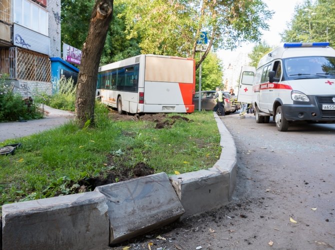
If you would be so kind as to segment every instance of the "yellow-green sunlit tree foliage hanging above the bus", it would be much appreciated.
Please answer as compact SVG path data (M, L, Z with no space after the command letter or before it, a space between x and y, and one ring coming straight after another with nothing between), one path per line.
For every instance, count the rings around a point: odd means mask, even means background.
M272 15L261 0L121 0L127 38L142 37L142 53L191 56L199 31L207 31L214 51L258 41Z

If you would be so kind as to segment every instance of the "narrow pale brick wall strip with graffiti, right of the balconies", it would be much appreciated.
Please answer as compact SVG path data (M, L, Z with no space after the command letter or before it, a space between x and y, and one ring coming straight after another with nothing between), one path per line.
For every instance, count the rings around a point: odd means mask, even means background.
M48 0L50 57L61 57L60 53L60 0Z

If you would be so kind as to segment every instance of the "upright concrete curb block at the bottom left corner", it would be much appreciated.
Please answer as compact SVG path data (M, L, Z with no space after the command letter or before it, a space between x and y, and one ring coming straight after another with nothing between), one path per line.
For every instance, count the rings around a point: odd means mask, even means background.
M104 195L85 192L2 206L2 249L106 249Z

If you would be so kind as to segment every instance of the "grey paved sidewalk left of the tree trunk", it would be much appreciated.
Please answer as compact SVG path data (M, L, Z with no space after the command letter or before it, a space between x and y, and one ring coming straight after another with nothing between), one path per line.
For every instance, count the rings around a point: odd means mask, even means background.
M44 105L44 118L25 122L11 121L0 123L0 142L38 133L64 124L74 116L74 112L64 111Z

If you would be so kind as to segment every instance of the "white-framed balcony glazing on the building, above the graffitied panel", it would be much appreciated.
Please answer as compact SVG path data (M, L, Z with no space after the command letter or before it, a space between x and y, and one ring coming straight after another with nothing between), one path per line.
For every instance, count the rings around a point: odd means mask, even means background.
M48 12L30 0L14 0L14 21L17 24L48 35Z

